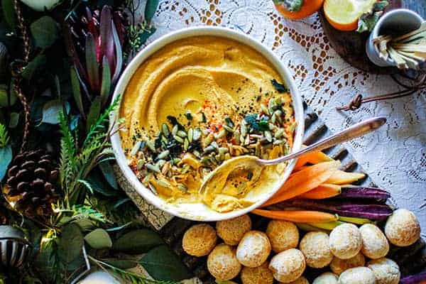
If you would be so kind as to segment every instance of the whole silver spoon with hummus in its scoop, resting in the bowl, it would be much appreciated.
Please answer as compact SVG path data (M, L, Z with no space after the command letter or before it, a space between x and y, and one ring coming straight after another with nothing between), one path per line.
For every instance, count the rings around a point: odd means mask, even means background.
M339 133L336 133L332 136L324 138L321 141L318 141L317 143L307 146L306 148L303 148L302 150L297 151L296 153L291 153L272 160L264 160L254 155L240 155L238 157L231 158L229 160L224 161L222 165L219 165L219 167L215 168L212 173L209 173L209 175L207 175L200 187L200 193L203 194L206 191L210 194L220 193L225 185L226 178L231 172L236 169L258 168L261 170L266 165L276 165L279 163L283 163L286 160L297 158L305 153L309 153L312 151L321 151L339 143L343 143L359 136L363 136L366 133L378 129L385 123L386 118L383 116L366 119L364 121L359 122L358 124L354 124L353 126L344 129L343 131L340 131ZM258 171L257 175L260 175L260 171Z

